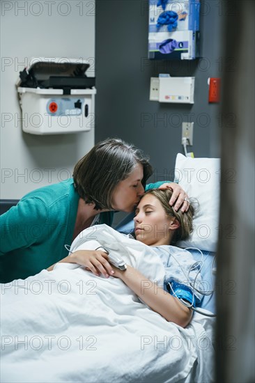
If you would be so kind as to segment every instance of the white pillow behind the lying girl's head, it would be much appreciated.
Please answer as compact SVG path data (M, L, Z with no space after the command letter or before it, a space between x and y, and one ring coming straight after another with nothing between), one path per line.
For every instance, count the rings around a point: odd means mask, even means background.
M197 247L216 251L219 234L220 159L191 158L178 153L175 181L194 198L194 231L189 240L178 242L179 247Z

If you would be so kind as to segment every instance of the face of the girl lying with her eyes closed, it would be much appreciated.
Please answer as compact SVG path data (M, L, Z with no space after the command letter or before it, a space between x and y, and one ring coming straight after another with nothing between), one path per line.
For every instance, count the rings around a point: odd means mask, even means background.
M169 244L171 233L169 226L173 220L168 217L160 201L152 194L146 194L137 209L134 217L134 233L138 241L148 246Z

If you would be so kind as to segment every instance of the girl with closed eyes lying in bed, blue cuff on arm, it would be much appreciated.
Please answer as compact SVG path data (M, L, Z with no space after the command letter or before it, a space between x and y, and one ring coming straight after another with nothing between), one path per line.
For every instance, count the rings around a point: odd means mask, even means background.
M186 327L192 318L192 310L182 304L179 299L184 299L188 302L187 304L195 304L199 299L197 293L193 295L193 290L187 281L187 279L192 278L189 275L189 270L194 261L187 251L170 247L173 258L178 258L177 263L174 264L171 256L169 256L169 245L178 240L185 240L190 236L194 208L190 205L187 212L176 212L169 205L171 194L170 189L149 190L141 198L134 217L136 240L155 247L167 269L168 277L164 281L164 288L155 286L155 283L148 281L141 272L131 265L127 265L124 271L114 267L107 260L108 255L105 251L79 250L70 253L61 262L83 265L97 276L102 273L106 278L114 276L121 279L153 311L162 315L167 321ZM177 255L176 258L175 255ZM51 271L53 267L49 267L48 270ZM178 276L183 267L186 267L186 273ZM194 279L196 279L195 276L193 281ZM180 280L185 280L185 282L178 282ZM171 282L170 294L166 292L169 281Z

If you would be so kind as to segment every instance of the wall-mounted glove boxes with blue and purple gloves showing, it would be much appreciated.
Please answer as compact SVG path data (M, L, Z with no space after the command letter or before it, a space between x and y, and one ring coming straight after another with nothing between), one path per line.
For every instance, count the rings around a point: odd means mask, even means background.
M199 0L148 0L148 58L199 57Z

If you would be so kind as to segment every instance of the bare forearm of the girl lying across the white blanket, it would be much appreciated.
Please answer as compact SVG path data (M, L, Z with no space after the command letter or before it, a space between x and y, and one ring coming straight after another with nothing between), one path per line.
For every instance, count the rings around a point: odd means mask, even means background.
M192 318L192 311L141 274L134 267L127 265L125 271L114 267L114 276L120 278L131 290L135 292L150 308L159 313L169 322L186 327Z

